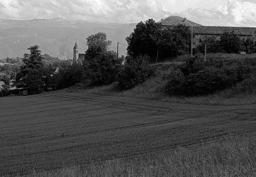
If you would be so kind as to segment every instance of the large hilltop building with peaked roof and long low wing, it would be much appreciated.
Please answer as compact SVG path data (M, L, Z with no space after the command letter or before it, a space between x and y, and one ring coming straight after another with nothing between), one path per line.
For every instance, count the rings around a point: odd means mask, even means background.
M203 42L207 37L215 35L220 37L225 31L234 31L236 35L239 35L241 38L246 39L247 37L255 38L256 28L253 27L212 27L212 26L203 26L196 22L187 20L180 16L169 16L165 19L160 20L162 27L175 27L177 25L185 25L187 27L193 27L193 35L195 46Z

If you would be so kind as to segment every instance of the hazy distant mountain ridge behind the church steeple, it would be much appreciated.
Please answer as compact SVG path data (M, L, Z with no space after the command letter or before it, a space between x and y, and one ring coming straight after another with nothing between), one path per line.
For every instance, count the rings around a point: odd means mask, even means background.
M117 42L126 44L125 38L132 33L136 24L68 21L60 18L42 20L0 20L0 59L23 57L29 46L41 46L46 53L59 59L72 59L72 48L77 39L79 52L86 50L86 38L104 32L112 41L111 50ZM119 54L126 54L120 46Z

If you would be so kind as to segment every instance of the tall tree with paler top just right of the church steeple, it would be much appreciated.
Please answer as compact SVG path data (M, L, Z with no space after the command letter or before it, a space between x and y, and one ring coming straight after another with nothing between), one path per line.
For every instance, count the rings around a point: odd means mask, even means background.
M88 49L83 62L83 82L87 86L111 84L115 81L121 61L109 50L110 41L105 33L96 33L87 38Z

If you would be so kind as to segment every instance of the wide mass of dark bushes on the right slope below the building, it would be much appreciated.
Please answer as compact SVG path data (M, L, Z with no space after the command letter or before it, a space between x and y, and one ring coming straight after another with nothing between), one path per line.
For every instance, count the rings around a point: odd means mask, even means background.
M169 76L169 95L199 96L223 91L251 78L255 62L190 59ZM248 82L248 81L247 81Z

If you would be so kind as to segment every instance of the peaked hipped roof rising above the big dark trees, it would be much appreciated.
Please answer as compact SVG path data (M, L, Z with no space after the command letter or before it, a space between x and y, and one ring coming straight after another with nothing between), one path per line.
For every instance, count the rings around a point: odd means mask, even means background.
M182 18L180 16L169 16L165 19L160 20L160 22L163 26L177 26L177 25L186 25L188 27L200 27L202 25L192 22L190 20L187 20L186 18Z

